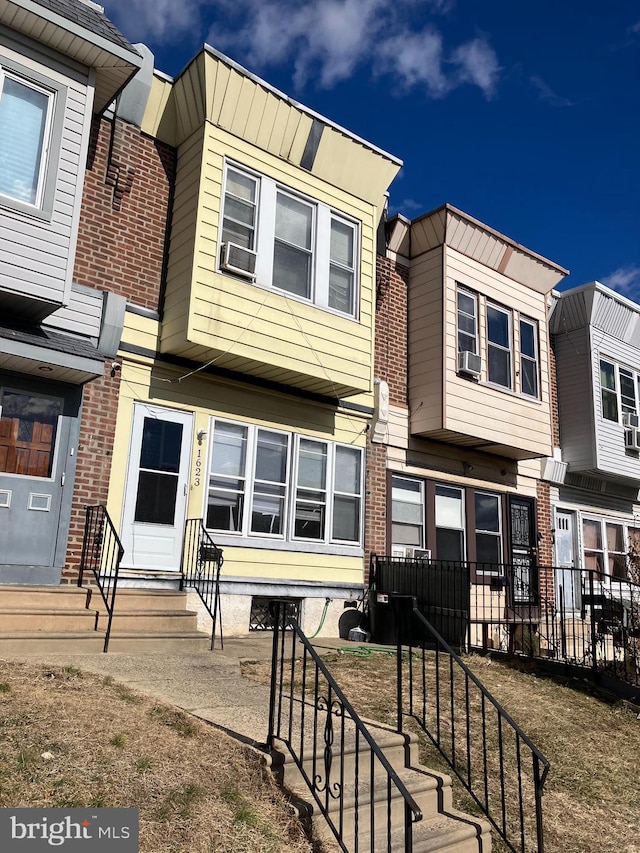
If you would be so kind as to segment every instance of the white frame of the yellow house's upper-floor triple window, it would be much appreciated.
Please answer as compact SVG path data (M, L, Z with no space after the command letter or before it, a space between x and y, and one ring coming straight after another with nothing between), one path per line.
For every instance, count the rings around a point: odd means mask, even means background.
M345 215L341 211L335 210L323 202L309 198L302 193L298 193L291 187L288 187L279 181L267 175L262 175L252 169L248 169L234 161L227 161L224 168L224 180L222 187L222 207L220 213L219 226L219 248L218 262L216 269L223 275L233 275L228 270L221 267L222 256L222 223L224 220L225 198L227 195L227 175L229 170L238 172L248 178L256 181L256 223L255 223L255 241L253 251L256 252L256 268L255 268L255 284L261 287L266 287L281 293L289 299L295 299L300 302L315 305L325 311L339 314L342 317L358 319L359 306L359 261L360 258L360 223L355 219ZM311 281L309 298L291 293L288 290L280 289L277 283L273 280L274 266L274 246L275 246L275 227L276 227L276 205L278 194L289 196L303 204L309 205L313 209L313 235L310 249L311 254ZM331 265L336 262L331 259L331 225L332 222L340 222L353 231L353 293L351 296L351 310L348 312L340 311L337 308L332 308L329 304L329 277ZM338 264L338 266L341 266ZM344 267L343 267L344 268ZM345 268L346 269L346 268Z

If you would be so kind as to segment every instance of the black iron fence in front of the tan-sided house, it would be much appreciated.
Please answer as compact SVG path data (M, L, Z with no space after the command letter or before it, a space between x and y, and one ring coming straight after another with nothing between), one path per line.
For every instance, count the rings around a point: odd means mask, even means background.
M369 599L378 642L395 640L385 604L392 593L415 597L457 649L554 661L640 688L640 585L630 580L557 566L374 556Z

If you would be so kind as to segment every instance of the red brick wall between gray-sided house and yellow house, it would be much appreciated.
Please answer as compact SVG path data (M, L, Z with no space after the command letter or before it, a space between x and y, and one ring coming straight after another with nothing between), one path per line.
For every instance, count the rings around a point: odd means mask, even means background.
M119 119L94 120L75 282L117 293L143 308L160 308L174 175L172 148ZM104 375L83 390L63 583L77 579L85 507L106 503L109 491L121 375L111 363L105 362Z

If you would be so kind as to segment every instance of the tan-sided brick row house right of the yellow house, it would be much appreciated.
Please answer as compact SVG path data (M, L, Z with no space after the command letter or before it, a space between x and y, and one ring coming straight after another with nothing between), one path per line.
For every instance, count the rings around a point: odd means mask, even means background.
M486 631L553 559L548 313L567 271L451 205L395 216L386 238L367 548L461 566L457 592L431 594Z

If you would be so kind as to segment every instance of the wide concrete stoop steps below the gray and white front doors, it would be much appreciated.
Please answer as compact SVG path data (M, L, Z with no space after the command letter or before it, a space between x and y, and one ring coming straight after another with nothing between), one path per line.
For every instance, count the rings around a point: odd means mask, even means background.
M206 651L210 637L176 590L122 589L116 595L109 649ZM107 612L95 587L0 586L0 653L102 651Z

